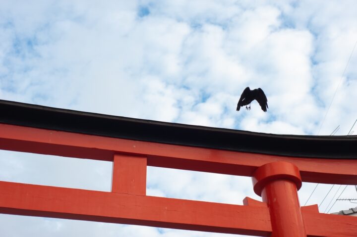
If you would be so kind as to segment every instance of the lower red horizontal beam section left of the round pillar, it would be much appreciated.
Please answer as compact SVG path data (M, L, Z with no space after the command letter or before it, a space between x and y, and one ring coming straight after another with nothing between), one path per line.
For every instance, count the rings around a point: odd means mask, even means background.
M0 181L0 213L269 236L266 206L242 206Z

